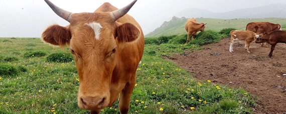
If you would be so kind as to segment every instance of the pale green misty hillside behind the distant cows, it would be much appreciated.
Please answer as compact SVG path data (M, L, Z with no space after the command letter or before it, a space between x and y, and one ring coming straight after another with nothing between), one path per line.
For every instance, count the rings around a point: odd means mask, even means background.
M286 29L286 18L253 18L253 19L216 19L216 18L196 18L198 23L207 23L205 30L219 31L223 28L236 28L237 30L245 30L245 26L248 22L253 21L269 21L272 23L280 23L282 29ZM179 19L169 21L168 24L162 25L156 30L145 35L145 37L158 37L162 35L181 35L186 34L185 23L187 19Z

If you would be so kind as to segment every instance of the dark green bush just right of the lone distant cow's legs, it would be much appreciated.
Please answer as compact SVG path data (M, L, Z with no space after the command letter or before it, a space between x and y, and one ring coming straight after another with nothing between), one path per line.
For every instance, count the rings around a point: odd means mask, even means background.
M198 33L195 39L190 41L190 43L204 45L204 44L208 44L211 42L219 41L220 39L221 39L221 34L219 34L216 31L207 30L207 31Z

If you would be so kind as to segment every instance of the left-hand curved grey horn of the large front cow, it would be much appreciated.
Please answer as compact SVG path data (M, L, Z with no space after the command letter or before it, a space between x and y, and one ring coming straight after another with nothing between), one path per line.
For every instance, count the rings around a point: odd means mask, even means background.
M45 0L46 3L54 10L54 12L60 17L64 18L67 21L70 21L72 12L66 11L55 4L53 4L50 0Z

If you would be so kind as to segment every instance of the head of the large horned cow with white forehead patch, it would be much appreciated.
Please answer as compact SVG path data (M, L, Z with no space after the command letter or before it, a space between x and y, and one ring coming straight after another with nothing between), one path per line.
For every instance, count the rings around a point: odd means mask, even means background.
M82 13L72 13L45 1L55 13L70 22L67 26L49 26L42 33L42 39L53 45L69 46L80 82L78 106L89 110L106 107L110 101L112 71L120 52L117 46L140 35L133 24L116 20L126 14L136 0L112 12Z

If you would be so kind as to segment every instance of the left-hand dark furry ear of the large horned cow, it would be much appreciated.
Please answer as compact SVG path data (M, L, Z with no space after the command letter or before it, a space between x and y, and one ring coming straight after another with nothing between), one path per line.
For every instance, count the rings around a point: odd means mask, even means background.
M66 46L70 43L71 33L69 27L58 24L50 25L42 33L42 40L58 46Z

